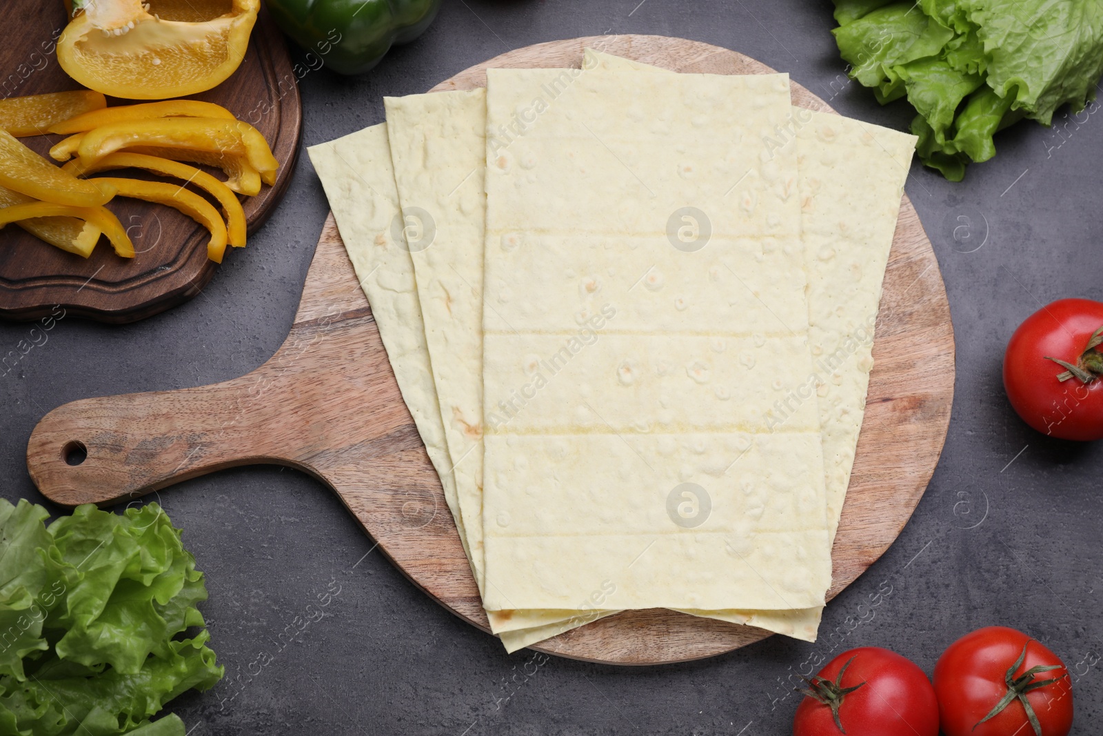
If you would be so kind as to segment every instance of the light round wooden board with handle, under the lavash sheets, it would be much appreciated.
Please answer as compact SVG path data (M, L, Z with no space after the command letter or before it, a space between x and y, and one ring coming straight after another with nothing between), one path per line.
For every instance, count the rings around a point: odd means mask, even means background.
M693 41L597 36L520 49L435 89L475 86L489 66L578 66L587 45L675 71L770 71ZM794 85L793 95L799 104L828 109L803 87ZM907 523L950 422L950 308L931 244L907 196L885 277L874 358L829 597L868 568ZM74 441L87 447L88 457L71 467L64 448ZM42 419L28 446L28 467L39 489L68 505L132 498L254 462L300 468L331 486L416 585L488 630L440 482L401 401L332 215L295 324L270 361L213 386L67 404ZM653 664L719 654L767 636L652 609L591 622L537 649L597 662Z

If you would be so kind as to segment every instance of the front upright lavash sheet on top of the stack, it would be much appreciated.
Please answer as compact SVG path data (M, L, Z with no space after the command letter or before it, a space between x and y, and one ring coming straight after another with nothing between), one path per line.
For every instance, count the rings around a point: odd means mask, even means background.
M823 604L815 402L765 424L811 371L789 110L785 75L488 72L488 609Z

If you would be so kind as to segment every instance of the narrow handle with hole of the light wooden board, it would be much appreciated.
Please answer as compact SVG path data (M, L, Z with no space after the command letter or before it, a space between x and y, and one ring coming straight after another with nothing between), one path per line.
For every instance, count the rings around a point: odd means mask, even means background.
M295 450L278 446L272 427L279 425L270 424L280 402L266 394L276 390L255 373L197 388L65 404L34 428L26 467L43 495L77 505L137 498L233 466L289 463Z

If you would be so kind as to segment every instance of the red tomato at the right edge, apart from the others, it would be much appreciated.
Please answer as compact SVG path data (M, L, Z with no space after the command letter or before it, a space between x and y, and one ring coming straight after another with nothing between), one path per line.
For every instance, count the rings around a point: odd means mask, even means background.
M1059 299L1019 326L1004 354L1004 387L1024 422L1061 439L1103 438L1103 353L1090 344L1101 328L1103 303L1090 299ZM1067 369L1051 358L1080 377L1058 380Z

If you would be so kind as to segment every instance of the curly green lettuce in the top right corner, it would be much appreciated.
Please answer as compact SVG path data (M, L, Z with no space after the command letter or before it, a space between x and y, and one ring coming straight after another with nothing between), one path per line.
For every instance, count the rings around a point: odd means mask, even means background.
M1103 0L835 0L839 52L881 104L907 96L924 164L961 180L994 134L1082 109L1103 76Z

